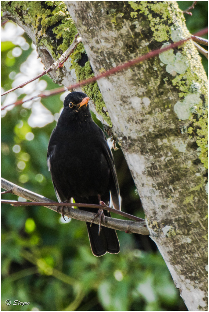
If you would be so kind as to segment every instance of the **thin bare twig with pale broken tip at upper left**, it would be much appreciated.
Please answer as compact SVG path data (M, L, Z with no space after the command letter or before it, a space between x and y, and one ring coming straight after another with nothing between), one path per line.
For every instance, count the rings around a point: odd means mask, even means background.
M4 93L2 93L2 96L5 95L5 94L8 94L8 93L10 93L10 92L12 92L14 90L17 90L18 88L23 88L28 83L30 83L30 82L32 82L32 81L34 81L34 80L36 80L38 78L41 78L42 76L46 75L47 73L52 71L54 68L62 67L62 66L60 66L60 64L63 64L67 60L67 58L72 54L72 52L77 47L78 43L81 42L81 37L77 38L78 35L79 35L78 33L77 33L77 35L75 35L75 38L74 38L72 44L69 46L69 48L49 68L47 68L45 71L43 71L38 76L36 76L36 77L34 77L34 78L32 78L32 79L22 83L21 85L17 85L16 87L14 87L14 88L12 88L10 90L5 91Z

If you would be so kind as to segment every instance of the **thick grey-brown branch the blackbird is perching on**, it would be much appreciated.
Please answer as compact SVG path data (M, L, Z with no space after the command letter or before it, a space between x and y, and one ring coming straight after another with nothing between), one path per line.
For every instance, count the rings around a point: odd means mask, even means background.
M20 186L9 182L2 178L2 188L5 190L11 190L11 193L17 196L21 196L27 200L30 200L32 202L41 202L42 206L47 207L53 211L57 212L57 208L59 206L62 206L63 203L59 204L56 203L42 195L39 195L37 193L31 192L25 188L21 188ZM45 203L51 203L51 206L46 206ZM23 204L23 203L22 203ZM27 204L30 204L29 202ZM64 203L65 207L63 207L63 213L67 217L71 217L73 219L85 221L85 222L92 222L93 217L95 216L94 213L82 211L79 209L73 209L67 205L68 203ZM55 206L56 205L56 206ZM73 204L74 206L77 204ZM83 204L82 204L83 206ZM98 205L99 206L99 205ZM101 206L99 206L101 207ZM115 211L114 211L115 212ZM59 213L62 213L61 211ZM149 235L149 231L146 227L145 222L134 222L134 221L126 221L126 220L120 220L120 219L113 219L110 217L105 217L106 222L102 225L105 227L110 227L112 229L125 231L128 233L138 233L142 235ZM95 219L93 223L99 224L99 220Z

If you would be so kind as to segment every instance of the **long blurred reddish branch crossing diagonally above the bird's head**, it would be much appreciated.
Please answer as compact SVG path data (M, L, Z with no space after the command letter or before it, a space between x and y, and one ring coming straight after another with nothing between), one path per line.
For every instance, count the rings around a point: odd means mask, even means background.
M202 35L206 34L207 32L208 32L208 28L204 28L204 29L202 29L201 31L195 33L194 36L202 36ZM129 67L135 66L135 65L137 65L138 63L141 63L141 62L143 62L143 61L145 61L145 60L147 60L147 59L150 59L150 58L152 58L152 57L154 57L154 56L157 56L157 55L159 55L159 54L161 54L161 53L163 53L163 52L165 52L165 51L168 51L168 50L170 50L170 49L175 49L176 47L181 46L182 44L184 44L186 41L188 41L188 40L190 40L190 39L192 39L192 37L188 37L187 39L182 39L182 40L180 40L180 41L177 41L177 42L175 42L175 43L170 44L169 46L165 46L164 48L160 48L160 49L157 49L157 50L153 50L153 51L151 51L151 52L149 52L149 53L147 53L147 54L145 54L145 55L142 55L142 56L137 57L137 58L134 59L134 60L127 61L127 62L123 63L122 65L119 65L119 66L117 66L117 67L115 67L115 68L113 67L113 68L109 69L108 71L105 71L105 72L103 72L103 73L101 73L101 74L99 74L99 75L97 75L97 76L94 76L94 77L91 77L91 78L82 80L82 81L80 81L80 82L78 82L78 83L75 83L75 84L73 84L73 85L69 85L69 86L67 87L67 89L68 89L68 90L72 90L72 89L78 88L78 87L80 87L80 86L82 86L82 85L87 85L87 84L89 84L89 83L95 82L95 81L97 81L97 80L99 80L99 79L101 79L101 78L111 76L111 75L113 75L113 74L115 74L115 73L117 73L117 72L120 72L120 71L122 71L122 70L124 70L124 69L127 69L127 68L129 68ZM53 93L52 93L52 94L58 94L58 93L63 92L63 88L57 88L57 89L55 89L55 90L56 90L56 91L53 90ZM42 94L43 94L43 93L42 93ZM33 100L33 99L35 99L35 98L37 98L37 97L45 97L45 96L42 96L42 94L39 94L39 95L37 95L37 96L34 96L34 97L32 97L32 98L30 98L30 99L28 99L28 100L24 100L24 101L20 100L20 101L17 101L17 102L15 102L15 103L12 103L12 104L5 105L5 106L2 107L1 110L4 110L6 107L8 107L8 106L10 106L10 105L15 105L15 106L16 106L16 105L21 105L21 104L23 104L23 103L25 103L25 102L27 102L27 101L29 101L29 100ZM50 95L52 95L52 94L50 93ZM48 96L49 96L49 95L48 95Z

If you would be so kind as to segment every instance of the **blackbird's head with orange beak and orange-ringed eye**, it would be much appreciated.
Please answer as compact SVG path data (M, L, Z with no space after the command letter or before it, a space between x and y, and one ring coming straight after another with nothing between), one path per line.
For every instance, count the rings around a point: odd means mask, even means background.
M71 92L64 100L64 108L69 111L79 111L87 108L89 97L83 92Z

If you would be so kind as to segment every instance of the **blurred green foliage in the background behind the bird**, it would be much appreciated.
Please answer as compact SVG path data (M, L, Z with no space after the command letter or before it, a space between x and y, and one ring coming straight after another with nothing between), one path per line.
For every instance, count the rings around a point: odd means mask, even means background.
M182 9L192 4L178 3ZM200 1L193 16L186 15L190 32L205 27L206 12L207 2ZM22 50L21 56L12 55L17 45L11 41L2 44L4 90L12 87L15 73L32 52L31 40L25 33L22 37L29 48ZM58 87L47 76L42 80L48 90ZM62 108L59 95L42 99L42 104L53 115ZM46 164L47 144L56 121L32 128L30 115L30 109L17 106L2 118L2 177L56 200ZM144 217L123 154L121 150L113 154L122 210ZM2 197L17 200L11 194ZM84 222L62 223L60 214L45 207L3 205L2 310L187 310L150 238L119 231L118 237L121 252L97 258L92 255ZM10 306L5 304L7 299L12 301ZM30 305L13 305L14 300L29 301Z

